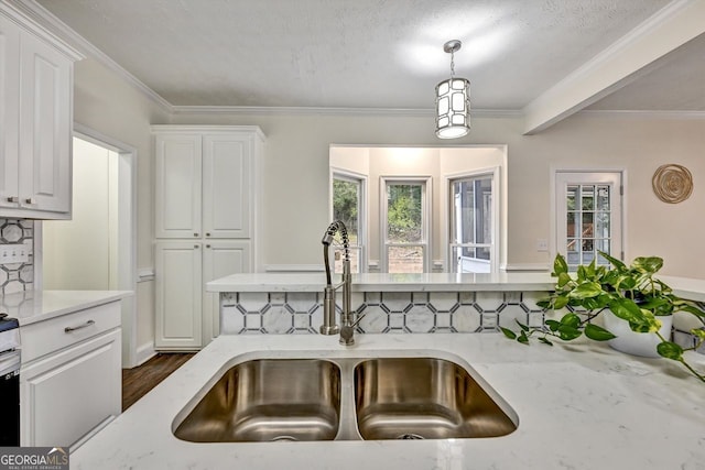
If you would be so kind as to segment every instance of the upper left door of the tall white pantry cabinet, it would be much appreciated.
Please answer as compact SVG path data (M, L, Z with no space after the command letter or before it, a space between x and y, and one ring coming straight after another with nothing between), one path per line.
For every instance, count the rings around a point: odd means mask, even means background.
M156 238L199 238L202 215L200 135L158 135Z

